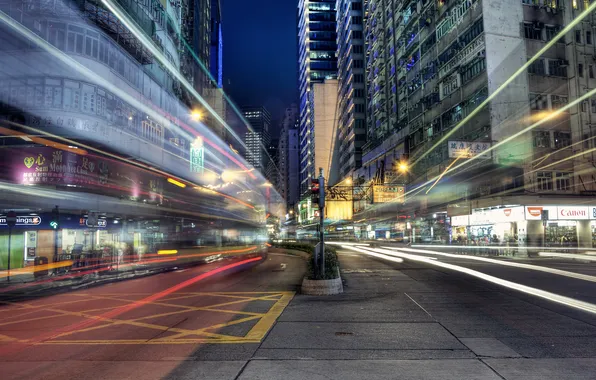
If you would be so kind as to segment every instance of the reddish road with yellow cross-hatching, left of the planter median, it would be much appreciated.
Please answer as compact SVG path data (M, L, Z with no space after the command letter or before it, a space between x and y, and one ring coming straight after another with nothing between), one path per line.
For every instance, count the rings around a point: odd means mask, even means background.
M269 255L204 278L225 265L5 303L2 378L218 378L229 371L235 376L238 362L222 368L213 361L256 350L294 296L306 264ZM209 362L183 365L193 359Z

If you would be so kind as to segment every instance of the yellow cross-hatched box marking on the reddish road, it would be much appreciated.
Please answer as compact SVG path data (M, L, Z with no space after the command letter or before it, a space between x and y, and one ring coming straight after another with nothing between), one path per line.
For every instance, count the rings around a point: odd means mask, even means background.
M37 345L260 343L294 292L188 292L148 301L151 296L72 293L52 304L16 303L10 308L19 318L0 324L0 337ZM23 322L36 328L15 328Z

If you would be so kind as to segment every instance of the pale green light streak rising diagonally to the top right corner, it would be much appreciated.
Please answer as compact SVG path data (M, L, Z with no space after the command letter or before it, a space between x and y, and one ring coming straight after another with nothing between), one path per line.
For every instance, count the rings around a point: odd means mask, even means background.
M426 157L427 154L435 150L441 144L443 144L449 137L457 132L464 124L468 123L476 114L478 114L486 105L488 105L498 94L501 93L510 83L512 83L519 75L528 69L536 60L538 60L544 53L546 53L551 47L563 38L567 33L573 31L575 26L579 24L584 18L586 18L592 11L596 9L596 2L592 3L587 9L580 13L573 21L571 21L565 28L563 28L552 40L547 42L542 49L540 49L534 56L522 65L512 76L510 76L503 84L501 84L492 94L490 94L478 107L474 108L468 116L460 121L455 127L447 132L439 141L437 141L430 149L426 150L420 157L418 157L412 166L416 165L422 158Z

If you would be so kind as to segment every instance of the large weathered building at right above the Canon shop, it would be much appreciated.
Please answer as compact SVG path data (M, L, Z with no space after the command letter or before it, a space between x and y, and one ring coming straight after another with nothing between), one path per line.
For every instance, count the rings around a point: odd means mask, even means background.
M439 183L428 196L406 202L405 210L431 215L446 210L452 216L457 209L455 215L470 213L473 224L478 210L519 205L523 211L526 206L531 211L526 209L525 217L522 212L517 227L508 224L501 235L519 233L528 244L541 245L544 236L556 234L534 215L553 205L577 205L577 196L596 190L589 174L593 166L588 169L595 162L590 120L596 102L585 100L545 119L596 88L594 14L527 70L519 69L590 2L370 0L366 5L369 142L363 176L387 178L406 153L408 180L421 184L466 152L477 157L472 169L450 173L449 189ZM433 197L437 191L440 197ZM550 217L556 218L552 211ZM576 219L568 235L585 242L580 235L589 222Z

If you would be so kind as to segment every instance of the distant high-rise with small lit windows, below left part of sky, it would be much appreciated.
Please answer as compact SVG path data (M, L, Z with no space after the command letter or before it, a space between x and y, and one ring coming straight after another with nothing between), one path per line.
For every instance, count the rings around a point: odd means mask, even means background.
M271 139L271 114L265 107L242 107L242 113L251 127L251 130L244 134L246 161L266 175L269 164L267 147Z

